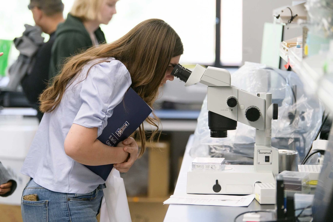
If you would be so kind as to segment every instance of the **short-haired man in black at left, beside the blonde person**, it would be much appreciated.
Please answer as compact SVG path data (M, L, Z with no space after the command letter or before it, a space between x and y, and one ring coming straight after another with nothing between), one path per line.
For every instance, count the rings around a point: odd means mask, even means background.
M42 120L43 113L38 109L39 95L48 86L51 49L55 41L55 32L59 23L64 22L64 4L61 0L30 0L28 8L31 10L36 26L50 35L48 42L37 51L36 62L29 74L23 77L21 85L25 96L37 109L37 117Z

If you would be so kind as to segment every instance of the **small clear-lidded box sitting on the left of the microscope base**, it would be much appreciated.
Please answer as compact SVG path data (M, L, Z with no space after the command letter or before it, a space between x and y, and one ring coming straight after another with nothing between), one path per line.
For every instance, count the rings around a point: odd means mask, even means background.
M192 161L192 170L224 170L224 158L197 157Z

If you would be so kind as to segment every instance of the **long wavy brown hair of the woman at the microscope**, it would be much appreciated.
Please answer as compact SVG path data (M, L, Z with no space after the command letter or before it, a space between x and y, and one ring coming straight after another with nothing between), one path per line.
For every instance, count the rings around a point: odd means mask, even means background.
M101 62L115 57L129 70L132 78L131 87L145 102L153 106L159 94L159 86L164 79L168 64L172 57L183 54L183 45L177 33L161 19L148 19L134 27L129 33L117 41L92 47L87 51L70 57L63 65L61 74L53 79L53 83L40 96L40 110L44 113L54 111L59 105L65 90L72 79L78 76L83 66L95 61L90 69ZM87 72L87 75L90 71ZM152 141L158 132L159 118L148 117L146 121L157 127L152 133ZM141 140L140 157L145 151L146 135L143 124L139 127Z

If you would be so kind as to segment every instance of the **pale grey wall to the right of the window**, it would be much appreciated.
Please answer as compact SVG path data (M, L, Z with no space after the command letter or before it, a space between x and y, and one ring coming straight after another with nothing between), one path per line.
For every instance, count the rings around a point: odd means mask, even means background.
M243 0L243 56L242 62L260 62L262 33L265 22L273 22L272 11L292 0ZM301 29L284 29L284 39L301 35Z

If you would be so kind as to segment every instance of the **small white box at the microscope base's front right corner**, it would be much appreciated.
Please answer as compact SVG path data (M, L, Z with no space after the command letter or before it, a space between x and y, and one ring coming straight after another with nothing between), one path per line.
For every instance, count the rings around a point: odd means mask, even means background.
M254 197L260 204L276 203L276 188L274 183L255 183Z

